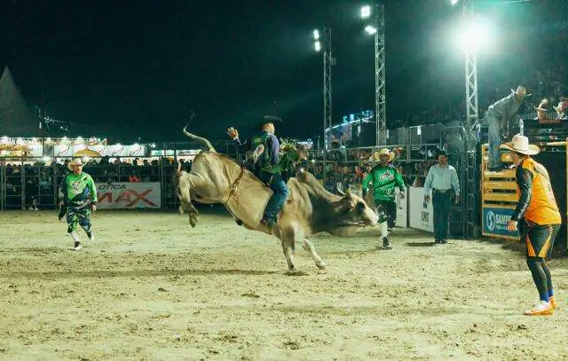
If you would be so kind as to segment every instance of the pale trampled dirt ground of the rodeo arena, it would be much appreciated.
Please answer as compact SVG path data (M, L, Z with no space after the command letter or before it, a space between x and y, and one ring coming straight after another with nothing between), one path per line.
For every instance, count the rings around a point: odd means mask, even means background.
M397 229L313 238L296 276L280 243L218 209L99 211L71 250L55 211L0 212L1 360L568 359L568 261L550 262L560 310L537 300L510 243Z

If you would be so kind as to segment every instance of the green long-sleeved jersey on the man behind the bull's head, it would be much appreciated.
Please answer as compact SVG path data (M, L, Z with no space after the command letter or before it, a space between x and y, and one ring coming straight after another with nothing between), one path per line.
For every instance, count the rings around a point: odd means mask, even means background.
M363 179L362 188L367 192L369 183L373 183L373 195L375 200L394 200L394 188L398 186L401 191L405 190L405 182L398 170L391 165L382 166L377 164Z

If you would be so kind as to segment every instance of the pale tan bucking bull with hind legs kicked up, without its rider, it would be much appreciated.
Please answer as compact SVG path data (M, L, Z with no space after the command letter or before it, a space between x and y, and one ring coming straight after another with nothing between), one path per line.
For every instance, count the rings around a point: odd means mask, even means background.
M289 271L295 269L296 241L302 241L302 247L312 256L316 266L325 269L326 263L306 237L319 232L349 236L377 222L375 212L365 200L351 192L342 192L342 196L327 192L312 174L300 172L288 181L288 198L277 226L269 228L262 225L260 220L272 195L271 189L248 169L217 153L209 140L197 137L185 128L184 134L206 145L209 150L197 154L191 172L181 170L181 164L177 166L179 213L187 211L189 222L194 227L199 212L192 200L206 204L222 203L237 224L280 239Z

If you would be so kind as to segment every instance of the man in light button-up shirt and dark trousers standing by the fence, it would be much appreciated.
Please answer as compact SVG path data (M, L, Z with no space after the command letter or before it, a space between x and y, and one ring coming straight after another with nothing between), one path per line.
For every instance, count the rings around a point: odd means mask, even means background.
M447 243L448 219L452 202L452 189L455 202L460 201L460 181L454 167L447 163L446 151L438 152L438 164L428 170L424 182L424 201L430 202L432 190L432 208L434 208L434 244Z

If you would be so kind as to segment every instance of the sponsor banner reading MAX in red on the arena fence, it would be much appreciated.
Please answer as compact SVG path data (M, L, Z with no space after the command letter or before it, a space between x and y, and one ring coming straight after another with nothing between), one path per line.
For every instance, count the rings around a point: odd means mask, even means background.
M98 208L160 208L162 197L160 183L98 183Z

